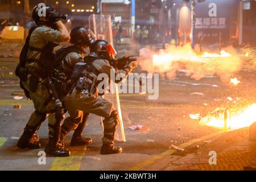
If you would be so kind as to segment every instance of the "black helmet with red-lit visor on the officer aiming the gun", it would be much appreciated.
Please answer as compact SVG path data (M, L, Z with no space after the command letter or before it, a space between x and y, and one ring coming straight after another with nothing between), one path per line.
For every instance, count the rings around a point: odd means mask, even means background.
M106 60L112 59L113 56L117 54L112 44L105 40L96 40L96 42L90 46L90 52Z

